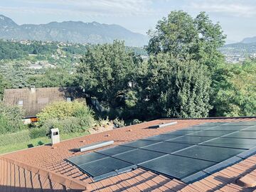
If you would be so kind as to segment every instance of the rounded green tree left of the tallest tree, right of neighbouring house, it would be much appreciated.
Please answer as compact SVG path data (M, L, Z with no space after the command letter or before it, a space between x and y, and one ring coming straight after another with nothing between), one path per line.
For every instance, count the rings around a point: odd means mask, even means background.
M78 85L109 107L124 105L139 63L139 57L127 51L122 41L97 45L87 50L77 68Z

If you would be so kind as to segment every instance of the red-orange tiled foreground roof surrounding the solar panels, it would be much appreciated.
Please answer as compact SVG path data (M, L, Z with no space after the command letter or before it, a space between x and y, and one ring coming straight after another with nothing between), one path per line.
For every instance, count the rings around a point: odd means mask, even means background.
M160 129L147 129L152 125L174 121L178 123ZM32 178L35 178L35 180L32 179L29 181L33 189L42 188L44 186L41 185L42 181L48 187L48 178L50 178L60 188L66 187L78 191L253 191L256 188L250 187L250 184L253 182L255 184L256 181L255 155L191 184L183 183L175 178L167 178L166 176L155 174L152 171L141 168L95 182L90 176L82 173L76 166L65 161L71 156L85 154L74 152L73 149L86 144L114 140L114 144L117 145L204 122L238 121L256 121L256 118L159 119L108 132L70 139L60 142L60 144L56 144L55 146L45 145L5 154L0 156L1 161L4 161L4 164L2 163L0 166L0 186L6 188L14 186L12 189L14 191L15 189L18 190L19 183L27 181L26 178L30 177L30 172L33 172ZM17 166L21 167L21 171L25 170L23 172L25 176L19 176L14 179L14 175L17 174L15 171L18 169ZM9 171L6 171L7 169ZM36 179L37 177L41 178L41 176L42 181ZM242 178L241 180L245 181L243 183L245 186L238 184L238 178ZM72 183L73 185L71 185ZM31 185L26 186L26 188L32 188Z

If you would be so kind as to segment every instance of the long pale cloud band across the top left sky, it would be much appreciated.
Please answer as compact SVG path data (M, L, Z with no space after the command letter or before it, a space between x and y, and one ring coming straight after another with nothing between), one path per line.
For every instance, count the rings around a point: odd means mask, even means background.
M17 0L11 0L16 1ZM82 14L82 16L149 16L159 11L151 7L153 0L22 0L22 7L4 7L1 11L38 12L48 14ZM164 0L161 0L164 1ZM19 9L19 10L18 10Z

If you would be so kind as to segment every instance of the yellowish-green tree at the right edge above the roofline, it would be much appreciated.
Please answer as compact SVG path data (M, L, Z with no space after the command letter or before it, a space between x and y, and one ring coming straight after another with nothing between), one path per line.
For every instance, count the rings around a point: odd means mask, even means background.
M219 65L213 90L214 116L256 115L256 61Z

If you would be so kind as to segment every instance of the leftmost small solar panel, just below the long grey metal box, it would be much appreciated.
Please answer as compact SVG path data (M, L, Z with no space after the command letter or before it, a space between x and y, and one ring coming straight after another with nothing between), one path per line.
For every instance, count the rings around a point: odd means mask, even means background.
M96 161L99 159L106 158L107 156L102 155L102 154L97 154L97 153L90 153L90 154L83 154L80 156L74 156L68 159L72 164L75 165L81 165L81 164L86 164L91 161Z

